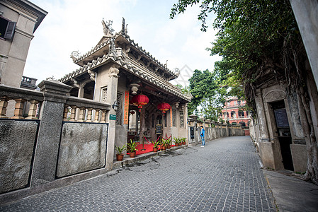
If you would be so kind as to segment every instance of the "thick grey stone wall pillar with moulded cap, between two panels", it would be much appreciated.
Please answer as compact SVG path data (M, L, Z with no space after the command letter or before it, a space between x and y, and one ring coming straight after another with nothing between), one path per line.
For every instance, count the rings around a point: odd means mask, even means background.
M41 121L35 148L31 187L55 180L65 95L72 89L71 86L59 81L42 81L39 87L44 92L44 101L40 113Z

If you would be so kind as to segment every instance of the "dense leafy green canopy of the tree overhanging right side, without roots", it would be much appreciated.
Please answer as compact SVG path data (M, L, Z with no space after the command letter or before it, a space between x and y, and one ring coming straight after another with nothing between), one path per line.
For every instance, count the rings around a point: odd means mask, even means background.
M292 66L286 64L302 61L305 51L288 0L179 0L171 9L171 18L193 4L200 4L198 19L203 31L208 28L208 13L217 15L213 24L218 30L217 40L208 50L222 56L215 71L220 80L223 78L222 83L233 88L232 94L242 96L244 90L249 105L254 106L256 81L266 71L275 73L270 78L290 81ZM302 77L297 79L300 84Z

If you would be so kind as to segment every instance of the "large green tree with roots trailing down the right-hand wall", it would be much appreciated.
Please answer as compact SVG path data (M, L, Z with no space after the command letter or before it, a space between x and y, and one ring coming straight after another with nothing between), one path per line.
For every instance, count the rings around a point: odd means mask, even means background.
M205 31L206 18L216 17L213 27L217 40L208 48L219 54L216 64L221 75L234 83L233 93L243 88L248 104L256 110L256 89L269 81L285 81L288 93L295 93L307 142L306 179L318 184L318 147L310 112L305 71L307 55L293 10L288 0L179 0L171 9L171 18L186 11L187 6L200 4L198 19ZM235 84L235 82L238 82Z

